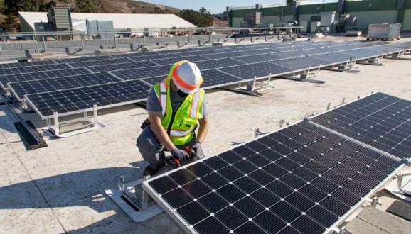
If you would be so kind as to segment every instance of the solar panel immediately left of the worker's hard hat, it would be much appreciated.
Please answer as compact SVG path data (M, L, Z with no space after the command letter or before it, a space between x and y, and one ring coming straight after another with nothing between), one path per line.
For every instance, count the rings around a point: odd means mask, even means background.
M140 79L165 76L169 74L170 69L170 65L162 65L156 67L142 67L136 69L118 70L111 73L121 79Z

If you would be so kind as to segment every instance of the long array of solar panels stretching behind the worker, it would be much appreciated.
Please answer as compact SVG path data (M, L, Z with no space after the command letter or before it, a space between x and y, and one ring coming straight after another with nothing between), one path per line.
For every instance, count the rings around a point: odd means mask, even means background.
M113 89L118 85L128 85L127 80L139 79L148 84L154 84L164 79L174 62L179 60L190 60L196 62L201 71L205 73L204 88L221 87L228 84L247 82L255 77L257 79L292 74L305 69L327 67L352 59L367 59L387 53L410 50L409 43L331 43L331 42L287 42L287 43L260 43L250 45L233 45L227 47L188 48L181 50L164 50L158 52L138 52L122 55L105 55L95 57L80 57L73 59L21 62L16 65L0 65L0 87L10 89L20 101L28 101L36 110L36 105L53 107L55 104L43 103L48 101L47 92L54 95L65 95L65 89L74 89L97 86L95 89ZM21 65L20 65L21 64ZM208 72L209 71L209 72ZM97 74L97 77L105 78L86 79L87 74ZM86 74L82 76L82 74ZM218 77L213 75L220 74ZM107 77L110 77L108 79ZM90 76L90 77L95 77ZM48 81L48 79L50 79ZM75 81L75 79L79 79ZM116 85L111 84L113 80L118 81ZM60 81L60 82L59 82ZM21 83L21 84L19 84ZM63 87L60 84L68 84ZM141 93L147 95L149 87L142 86ZM14 90L16 89L16 90ZM105 90L107 91L107 90ZM32 94L38 94L33 95ZM80 94L79 94L80 95ZM31 97L44 98L31 100ZM81 95L80 95L81 96ZM143 97L146 99L147 96ZM78 99L75 106L83 106ZM136 99L135 101L139 101ZM144 101L144 100L143 100ZM90 101L90 104L92 101ZM129 103L129 101L127 101ZM60 103L64 106L65 102ZM97 100L95 101L97 104ZM109 106L111 106L110 104ZM99 106L105 108L108 106ZM89 106L91 108L91 106ZM59 116L70 115L65 110L73 108L55 108ZM61 112L63 111L63 112ZM81 111L75 110L75 111ZM38 112L42 118L50 118L45 112Z

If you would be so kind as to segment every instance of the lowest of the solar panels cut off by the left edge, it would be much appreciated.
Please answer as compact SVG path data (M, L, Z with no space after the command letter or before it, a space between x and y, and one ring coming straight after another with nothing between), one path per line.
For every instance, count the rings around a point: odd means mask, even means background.
M73 68L73 69L60 69L55 71L47 72L33 72L24 74L9 74L0 76L1 88L5 89L6 84L9 82L25 82L33 79L49 79L55 77L69 77L75 74L87 74L90 73L89 70L84 68Z

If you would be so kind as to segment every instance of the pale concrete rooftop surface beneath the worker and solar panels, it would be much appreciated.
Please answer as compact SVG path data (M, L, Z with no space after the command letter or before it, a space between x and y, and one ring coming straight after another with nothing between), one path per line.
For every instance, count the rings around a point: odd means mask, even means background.
M255 128L272 132L279 128L280 119L294 123L304 116L326 111L329 103L337 106L344 98L348 102L371 91L382 91L411 100L410 61L383 63L383 67L356 65L361 70L359 74L321 71L317 79L326 81L325 84L274 80L275 88L261 97L209 90L211 127L203 144L206 155L252 140ZM36 113L21 116L33 121L46 135L46 123ZM114 188L114 178L119 175L127 181L142 177L146 163L135 141L146 117L147 112L135 105L102 110L102 130L70 138L46 136L48 147L27 151L14 128L16 119L5 105L0 105L1 233L181 233L166 213L134 223L104 193L105 189ZM385 191L378 196L382 203L377 206L380 211L395 200ZM385 223L368 221L364 218L370 215L367 212L353 220L357 225L351 225L351 232L375 230L368 225L380 230L381 223L388 227L397 225L397 220L390 219L385 219ZM365 225L368 229L364 229ZM384 231L401 233L395 228Z

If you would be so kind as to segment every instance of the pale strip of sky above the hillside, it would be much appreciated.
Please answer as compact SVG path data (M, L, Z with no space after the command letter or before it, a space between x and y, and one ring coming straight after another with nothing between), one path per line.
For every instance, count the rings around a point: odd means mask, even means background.
M204 6L211 13L223 13L227 6L255 6L255 4L279 4L279 1L284 2L285 0L262 0L250 1L250 0L142 0L146 2L151 2L154 4L162 4L166 6L174 6L179 9L193 9L198 11L202 6ZM323 2L323 0L306 0L311 2ZM333 2L338 0L324 0L325 2Z

